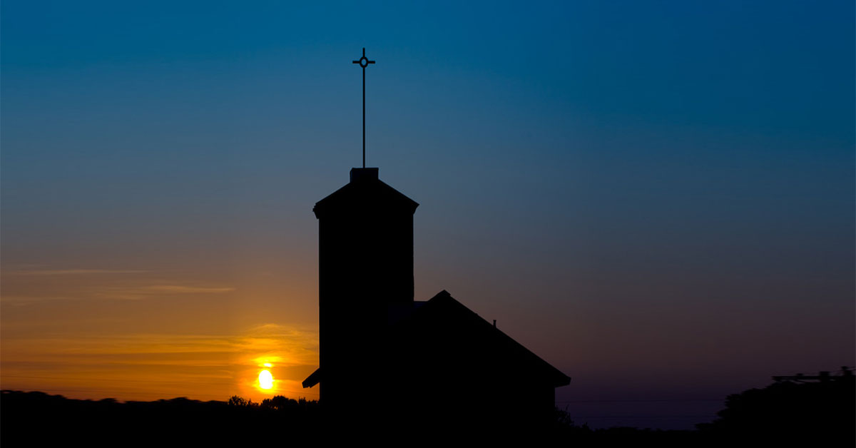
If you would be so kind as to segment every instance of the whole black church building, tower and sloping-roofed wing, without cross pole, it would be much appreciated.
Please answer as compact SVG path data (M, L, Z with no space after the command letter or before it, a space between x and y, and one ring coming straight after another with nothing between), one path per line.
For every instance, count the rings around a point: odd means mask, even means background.
M320 385L331 425L511 433L550 425L570 378L445 290L413 300L419 206L354 168L316 203ZM378 427L379 426L379 427Z

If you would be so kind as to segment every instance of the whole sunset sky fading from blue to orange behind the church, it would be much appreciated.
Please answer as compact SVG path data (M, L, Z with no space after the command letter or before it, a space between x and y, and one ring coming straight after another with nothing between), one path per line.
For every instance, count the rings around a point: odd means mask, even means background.
M6 0L2 387L317 398L312 206L361 164L363 47L416 299L571 376L574 421L692 428L853 366L854 28L847 1Z

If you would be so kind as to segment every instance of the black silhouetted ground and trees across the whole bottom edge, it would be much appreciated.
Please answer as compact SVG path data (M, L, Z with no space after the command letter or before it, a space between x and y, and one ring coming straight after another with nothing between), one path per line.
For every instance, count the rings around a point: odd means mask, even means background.
M274 397L248 403L199 402L187 398L155 402L74 400L42 392L2 391L0 442L15 446L277 446L313 442L367 442L373 446L550 445L550 446L854 446L856 391L853 376L823 382L777 382L728 397L713 423L695 431L631 427L591 430L556 410L555 421L537 433L508 427L454 432L443 424L403 430L383 415L370 425L348 426L347 415L324 415L314 401ZM369 409L369 407L366 407ZM359 409L359 407L357 407ZM377 409L373 407L372 409ZM362 415L365 417L365 415ZM371 417L371 416L370 416ZM366 421L363 418L360 421ZM453 442L455 442L453 444ZM503 443L504 442L504 443Z

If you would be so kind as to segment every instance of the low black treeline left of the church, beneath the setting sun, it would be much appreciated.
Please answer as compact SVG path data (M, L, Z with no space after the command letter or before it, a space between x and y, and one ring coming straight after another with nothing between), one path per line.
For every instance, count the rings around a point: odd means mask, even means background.
M307 441L318 433L316 401L277 396L253 403L173 398L152 402L77 400L43 392L2 391L0 445L223 445Z

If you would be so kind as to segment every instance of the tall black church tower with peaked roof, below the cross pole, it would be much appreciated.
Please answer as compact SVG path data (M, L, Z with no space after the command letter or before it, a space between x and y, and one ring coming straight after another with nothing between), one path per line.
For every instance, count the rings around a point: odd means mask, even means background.
M350 182L312 209L318 218L315 380L327 409L359 403L377 384L383 364L392 361L383 349L389 319L413 307L413 213L419 204L381 182L377 171L352 169Z

